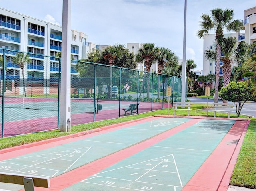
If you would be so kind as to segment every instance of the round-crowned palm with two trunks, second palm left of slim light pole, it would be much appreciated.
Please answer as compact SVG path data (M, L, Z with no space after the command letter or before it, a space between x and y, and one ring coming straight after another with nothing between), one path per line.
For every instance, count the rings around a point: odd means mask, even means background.
M156 61L156 57L158 54L159 54L159 48L155 48L154 43L145 43L143 44L142 48L138 50L138 53L136 54L136 62L145 61L146 71L149 72L152 63ZM144 79L142 81L142 87L140 89L140 96L141 96L144 81L145 81L145 78L147 77L147 98L149 98L149 74L150 73L144 75Z

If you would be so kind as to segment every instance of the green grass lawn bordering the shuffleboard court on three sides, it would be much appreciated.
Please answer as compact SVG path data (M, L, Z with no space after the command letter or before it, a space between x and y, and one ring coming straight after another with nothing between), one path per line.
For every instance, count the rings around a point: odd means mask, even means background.
M198 111L196 109L202 109L206 107L205 104L193 104L192 111L190 111L190 116L206 116L206 111ZM169 110L170 115L174 114L173 110ZM120 122L126 122L130 120L135 120L139 118L144 118L148 116L154 116L159 114L168 114L168 109L157 110L154 112L148 112L138 115L127 116L118 119L104 120L100 122L92 122L82 125L76 125L71 127L71 132L60 132L59 130L54 130L51 132L38 132L33 134L26 134L14 137L6 137L0 139L0 149L9 148L13 146L18 146L22 144L28 144L32 142L37 142L40 140L46 140L50 138L56 138L68 134L74 134L77 132L83 132L90 129L99 128L102 126L107 126L111 124L116 124ZM178 111L178 115L187 115L187 111ZM208 112L208 116L214 116L214 113ZM217 117L227 117L227 114L216 113ZM235 114L230 114L231 118L237 118ZM239 118L248 118L240 116ZM236 163L231 181L231 185L237 185L242 187L254 188L256 189L256 120L252 119L248 127L248 131L244 138L240 154L238 156L238 161Z

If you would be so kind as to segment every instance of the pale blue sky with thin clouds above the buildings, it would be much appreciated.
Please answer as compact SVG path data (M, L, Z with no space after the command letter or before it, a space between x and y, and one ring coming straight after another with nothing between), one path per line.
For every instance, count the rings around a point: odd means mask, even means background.
M1 0L0 6L62 25L62 0ZM203 69L203 39L196 36L203 13L229 8L244 20L254 6L256 0L187 0L186 59ZM98 45L154 43L182 59L184 0L71 0L71 28Z

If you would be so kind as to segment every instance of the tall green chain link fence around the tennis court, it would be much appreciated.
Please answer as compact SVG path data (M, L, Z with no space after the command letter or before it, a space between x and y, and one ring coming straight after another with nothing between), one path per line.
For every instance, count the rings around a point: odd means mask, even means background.
M19 53L0 49L1 137L59 128L60 58ZM71 60L71 126L168 108L167 86L181 101L180 77Z

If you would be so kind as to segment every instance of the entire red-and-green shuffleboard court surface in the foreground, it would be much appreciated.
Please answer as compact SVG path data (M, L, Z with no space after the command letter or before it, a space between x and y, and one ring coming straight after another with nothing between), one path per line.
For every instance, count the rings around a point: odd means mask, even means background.
M17 173L25 172L26 168L36 171L39 166L25 165L24 161L28 163L29 158L39 160L36 157L51 158L53 153L60 156L61 152L72 152L68 155L73 157L78 148L80 154L83 148L80 161L74 160L80 162L78 166L72 163L72 168L65 167L67 160L63 164L59 160L60 167L68 170L59 170L59 175L52 175L52 172L51 175L44 174L51 178L51 187L36 188L36 191L226 191L249 121L210 117L148 117L0 150L1 171L11 171L15 164L23 165L22 170L16 167ZM84 145L81 145L82 142ZM90 146L92 142L95 144ZM86 156L100 143L103 146L98 148L103 149ZM113 146L110 147L111 144ZM94 155L95 158L92 158ZM86 162L88 158L92 158L90 162ZM56 158L50 160L54 162ZM7 164L11 166L8 169L4 168ZM49 165L49 161L45 164ZM149 169L143 168L143 164ZM41 162L38 165L40 169L46 169ZM160 167L165 170L160 170ZM50 170L53 171L54 166L47 168L47 171ZM133 179L133 175L138 177ZM169 175L174 175L177 181Z

